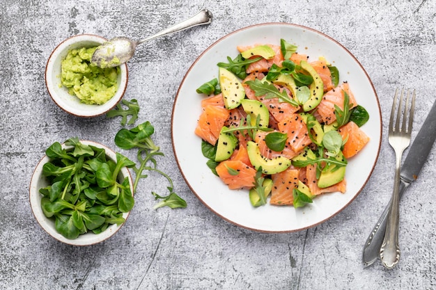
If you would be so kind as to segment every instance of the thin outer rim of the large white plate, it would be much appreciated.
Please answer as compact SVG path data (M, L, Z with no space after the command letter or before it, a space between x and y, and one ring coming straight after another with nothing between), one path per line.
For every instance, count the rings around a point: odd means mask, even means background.
M173 130L173 118L174 118L174 114L176 111L176 103L178 101L178 97L180 94L180 90L182 89L183 84L185 83L187 76L189 75L189 73L192 71L192 69L194 68L194 66L198 63L198 61L200 61L200 59L210 50L212 50L219 42L222 42L223 40L225 40L226 38L231 37L231 35L234 35L236 33L240 33L242 31L246 31L249 29L255 29L257 27L260 26L293 26L295 28L298 29L303 29L303 30L307 30L307 31L311 31L313 33L316 33L320 36L322 36L323 38L327 38L328 40L334 42L336 45L340 46L349 56L351 56L355 63L357 63L357 65L359 65L360 69L362 72L364 72L366 79L368 79L369 84L371 85L371 90L374 93L375 96L375 101L377 104L377 113L380 116L380 131L378 132L378 135L380 137L380 142L377 145L377 152L375 154L375 159L373 162L373 165L371 166L371 170L368 172L368 176L366 177L364 183L361 185L361 187L359 188L359 190L357 191L357 193L355 193L355 195L346 203L343 205L343 207L341 207L340 209L338 209L337 211L334 212L334 214L331 214L330 216L328 216L327 218L323 218L322 220L318 221L317 223L313 223L311 225L306 225L304 227L299 227L298 229L289 229L289 230L266 230L266 229L256 229L254 227L249 227L247 225L241 225L240 223L237 223L229 218L226 218L225 216L223 216L222 214L219 214L217 211L215 211L214 209L212 209L212 207L210 207L210 205L205 202L200 195L198 195L198 193L196 193L196 191L194 191L194 188L192 187L192 185L190 184L190 182L188 181L187 177L185 176L185 173L183 172L181 166L180 166L180 162L179 162L179 158L178 158L178 154L176 152L176 145L174 142L174 130ZM383 132L383 120L382 120L382 111L380 108L380 99L377 95L377 91L375 90L373 81L371 80L371 78L368 75L368 72L366 72L366 70L364 69L363 65L361 65L361 63L357 60L357 58L351 53L351 51L349 49L347 49L346 47L344 47L340 42L338 42L337 40L335 40L334 38L332 38L331 36L322 33L321 31L318 31L316 29L312 29L311 27L308 26L303 26L300 24L293 24L293 23L288 23L288 22L265 22L265 23L260 23L260 24L253 24L253 25L249 25L249 26L244 26L240 29L237 29L235 31L232 31L231 33L227 33L226 35L222 36L221 38L219 38L218 40L216 40L215 42L212 43L212 45L208 46L203 52L201 52L201 54L196 57L195 61L192 63L192 65L189 66L188 70L185 72L185 75L182 78L182 81L180 82L180 85L178 87L178 90L176 92L176 96L174 98L173 101L173 108L172 108L172 112L171 112L171 145L173 148L173 154L174 154L174 158L176 159L176 163L177 166L179 168L180 174L182 175L183 179L185 180L185 183L187 184L187 186L189 187L189 189L192 191L192 193L194 193L194 195L196 196L196 198L198 200L200 200L200 202L206 207L208 208L210 211L212 211L212 213L214 213L215 215L219 216L220 218L222 218L223 220L226 220L228 223L231 223L232 225L236 225L238 227L244 228L244 229L249 229L251 231L254 232L261 232L261 233L268 233L268 234L280 234L280 233L290 233L290 232L299 232L302 231L304 229L309 229L311 227L316 227L322 223L325 223L327 220L330 220L331 218L333 218L334 216L336 216L337 214L341 213L341 211L343 211L346 207L348 207L353 201L355 201L355 199L357 198L357 196L361 193L361 191L363 191L363 189L365 188L366 184L368 184L369 179L371 178L371 176L373 175L375 166L377 164L377 161L379 159L380 156L380 150L381 150L381 146L382 146L382 132Z

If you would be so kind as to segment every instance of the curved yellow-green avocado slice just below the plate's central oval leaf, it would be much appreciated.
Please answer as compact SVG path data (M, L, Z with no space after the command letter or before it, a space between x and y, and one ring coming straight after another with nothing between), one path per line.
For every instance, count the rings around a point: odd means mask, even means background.
M282 172L290 166L290 159L284 156L277 156L273 159L262 156L258 144L253 141L247 142L247 152L254 168L258 170L262 167L262 172L267 175Z

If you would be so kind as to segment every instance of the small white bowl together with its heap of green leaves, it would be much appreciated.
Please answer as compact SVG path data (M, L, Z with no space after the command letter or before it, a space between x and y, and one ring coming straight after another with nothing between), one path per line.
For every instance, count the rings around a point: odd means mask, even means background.
M31 177L33 215L63 243L105 241L124 225L134 206L132 166L127 157L100 143L78 138L54 142Z

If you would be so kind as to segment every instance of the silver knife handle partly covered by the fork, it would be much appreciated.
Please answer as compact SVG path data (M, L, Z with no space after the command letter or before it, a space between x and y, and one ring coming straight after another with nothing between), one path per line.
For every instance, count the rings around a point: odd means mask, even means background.
M400 198L403 196L403 192L405 191L405 188L407 188L407 186L409 186L408 183L403 182L403 180L400 181ZM384 209L382 216L380 216L377 224L375 225L375 227L373 227L371 234L368 236L368 239L366 239L363 253L364 266L372 265L375 260L380 257L380 248L382 247L384 239L384 232L386 230L387 223L387 214L389 213L391 202L392 200L389 200L389 203Z

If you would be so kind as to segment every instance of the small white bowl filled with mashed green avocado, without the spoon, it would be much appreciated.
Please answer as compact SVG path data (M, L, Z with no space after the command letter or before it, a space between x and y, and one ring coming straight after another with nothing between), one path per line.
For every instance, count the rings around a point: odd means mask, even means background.
M72 115L95 117L114 108L127 88L127 65L100 68L91 65L98 35L75 35L59 44L49 56L45 83L53 101Z

